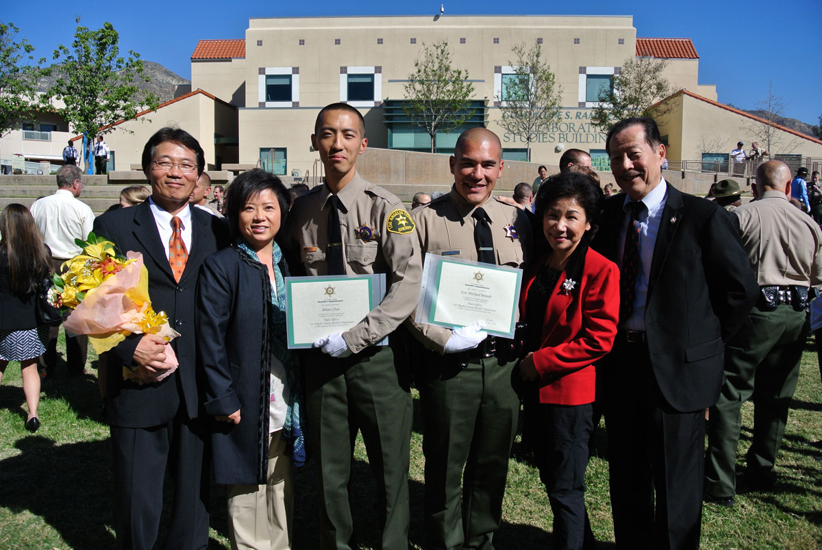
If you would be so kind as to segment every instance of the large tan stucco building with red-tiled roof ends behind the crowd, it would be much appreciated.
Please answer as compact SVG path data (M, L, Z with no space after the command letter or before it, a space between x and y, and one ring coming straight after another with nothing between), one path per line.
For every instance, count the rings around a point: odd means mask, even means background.
M240 164L288 175L316 171L309 136L319 109L336 101L363 112L369 146L426 151L427 134L404 122L399 105L423 44L438 40L448 41L455 66L469 72L478 106L473 123L501 136L507 159L525 154L522 139L497 123L518 44L541 44L562 88L561 122L533 143L533 162L556 164L567 147L604 155L603 136L589 124L599 86L638 52L669 59L666 73L676 89L716 99L713 86L698 82L699 56L690 39L637 39L631 16L252 19L245 39L197 44L192 89L238 107ZM458 133L437 136L437 150L452 148Z

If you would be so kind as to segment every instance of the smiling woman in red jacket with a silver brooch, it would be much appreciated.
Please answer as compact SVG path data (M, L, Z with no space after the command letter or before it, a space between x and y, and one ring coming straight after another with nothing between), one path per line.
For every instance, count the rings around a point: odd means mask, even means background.
M611 350L619 316L619 269L588 247L602 204L598 185L579 173L561 173L540 186L535 220L542 220L550 250L525 275L520 298L529 352L520 376L529 388L526 406L554 515L554 548L593 548L584 478L594 363Z

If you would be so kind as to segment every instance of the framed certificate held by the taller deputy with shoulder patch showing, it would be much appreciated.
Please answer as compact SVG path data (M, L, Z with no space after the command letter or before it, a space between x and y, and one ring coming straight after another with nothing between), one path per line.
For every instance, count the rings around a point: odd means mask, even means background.
M382 301L385 287L382 274L286 277L289 348L310 348L319 338L357 325Z

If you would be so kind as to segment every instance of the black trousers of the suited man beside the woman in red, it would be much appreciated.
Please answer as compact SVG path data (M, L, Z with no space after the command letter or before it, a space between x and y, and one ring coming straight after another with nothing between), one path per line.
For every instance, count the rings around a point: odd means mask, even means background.
M617 548L699 548L704 410L665 402L644 343L617 340L603 371Z

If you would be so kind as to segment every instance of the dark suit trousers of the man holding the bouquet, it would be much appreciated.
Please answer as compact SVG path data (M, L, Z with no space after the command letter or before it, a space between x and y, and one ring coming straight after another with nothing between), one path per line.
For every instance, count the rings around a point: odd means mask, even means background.
M118 548L154 548L163 511L166 466L174 497L169 534L161 548L208 546L208 472L205 429L179 413L152 428L111 427L114 474L114 530Z

